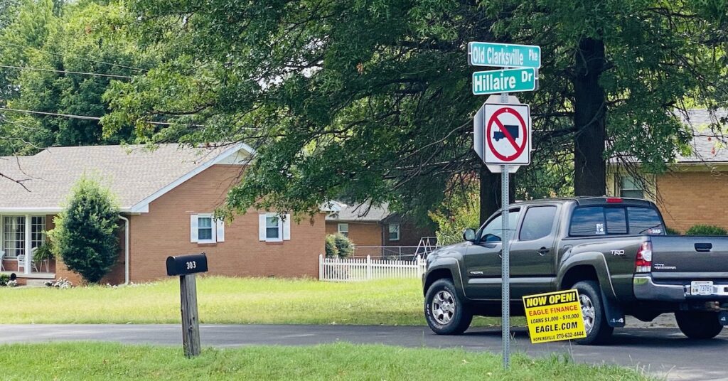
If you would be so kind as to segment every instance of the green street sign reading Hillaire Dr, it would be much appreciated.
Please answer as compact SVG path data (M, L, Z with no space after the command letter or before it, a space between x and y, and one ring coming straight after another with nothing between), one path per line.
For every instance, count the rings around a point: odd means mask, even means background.
M472 93L475 95L533 91L536 84L534 68L475 71L472 74Z

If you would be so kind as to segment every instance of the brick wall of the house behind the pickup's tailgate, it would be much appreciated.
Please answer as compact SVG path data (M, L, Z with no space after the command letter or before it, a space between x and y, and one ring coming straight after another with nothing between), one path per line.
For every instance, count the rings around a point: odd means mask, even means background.
M728 172L673 172L657 176L657 205L665 224L684 233L695 224L728 229Z

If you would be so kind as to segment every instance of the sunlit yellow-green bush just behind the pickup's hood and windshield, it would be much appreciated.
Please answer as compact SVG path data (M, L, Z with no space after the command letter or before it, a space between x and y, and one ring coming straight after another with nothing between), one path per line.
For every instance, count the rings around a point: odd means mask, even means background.
M480 226L480 196L475 186L467 192L456 193L448 197L448 201L430 213L432 221L438 224L435 235L438 245L446 246L462 242L464 229L478 229Z

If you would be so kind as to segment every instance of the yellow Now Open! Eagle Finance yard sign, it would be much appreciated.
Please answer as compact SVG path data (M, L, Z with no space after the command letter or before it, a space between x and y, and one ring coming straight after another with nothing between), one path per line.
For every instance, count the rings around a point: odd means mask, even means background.
M577 290L523 296L531 343L587 337Z

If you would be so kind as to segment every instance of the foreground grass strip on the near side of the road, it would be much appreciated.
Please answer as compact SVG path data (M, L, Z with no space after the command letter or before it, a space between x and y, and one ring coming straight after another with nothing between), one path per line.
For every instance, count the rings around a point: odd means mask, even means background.
M649 380L617 366L556 357L384 345L203 348L188 360L179 347L54 343L0 346L3 380Z

